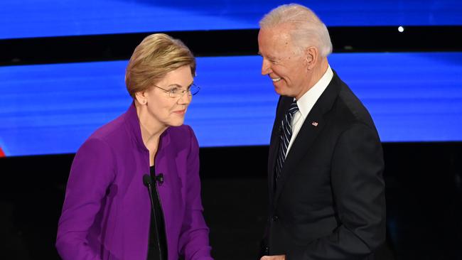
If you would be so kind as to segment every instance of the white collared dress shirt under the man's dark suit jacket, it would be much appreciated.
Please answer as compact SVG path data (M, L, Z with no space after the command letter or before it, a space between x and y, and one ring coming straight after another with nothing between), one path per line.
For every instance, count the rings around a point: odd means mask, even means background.
M305 121L306 117L308 117L309 112L313 108L316 101L318 101L321 94L323 94L324 90L326 90L327 85L331 82L333 77L333 71L331 69L331 65L328 65L326 72L324 73L323 77L316 82L316 84L311 87L299 100L297 100L297 106L299 106L299 111L294 114L292 117L291 126L292 126L292 137L291 141L289 142L289 146L287 146L286 156L289 153L289 150L294 143L294 140L299 134L301 126ZM295 98L294 98L295 100Z

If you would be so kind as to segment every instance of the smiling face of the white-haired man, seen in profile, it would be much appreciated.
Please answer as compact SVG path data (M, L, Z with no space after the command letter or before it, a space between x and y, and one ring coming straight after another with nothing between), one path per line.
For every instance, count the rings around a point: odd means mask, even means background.
M308 90L310 72L303 52L293 45L289 30L288 25L260 29L258 47L263 58L262 75L271 78L278 94L299 99Z

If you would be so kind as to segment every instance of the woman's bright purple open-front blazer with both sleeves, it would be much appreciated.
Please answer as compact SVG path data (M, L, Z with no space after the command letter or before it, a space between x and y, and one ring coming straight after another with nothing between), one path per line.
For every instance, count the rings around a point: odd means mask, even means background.
M186 125L161 135L155 158L168 260L212 259L200 199L198 141ZM151 221L149 151L134 104L95 131L70 170L56 247L63 259L146 260Z

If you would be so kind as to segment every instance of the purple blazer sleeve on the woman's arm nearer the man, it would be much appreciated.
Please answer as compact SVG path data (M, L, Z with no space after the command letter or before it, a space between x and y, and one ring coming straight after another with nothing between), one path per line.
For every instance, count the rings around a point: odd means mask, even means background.
M191 147L187 166L186 214L181 227L179 248L186 260L213 259L210 256L208 227L200 198L199 146L193 130L189 130Z

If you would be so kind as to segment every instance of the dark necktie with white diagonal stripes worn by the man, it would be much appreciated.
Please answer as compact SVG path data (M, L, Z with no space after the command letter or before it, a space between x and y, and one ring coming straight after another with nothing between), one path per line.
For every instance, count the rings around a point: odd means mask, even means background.
M282 166L284 165L284 161L286 160L286 152L287 147L289 146L289 142L292 136L292 126L291 121L294 114L299 111L299 107L297 106L296 100L292 102L289 109L287 110L284 118L281 121L281 131L279 133L279 152L276 158L276 183L281 175Z

